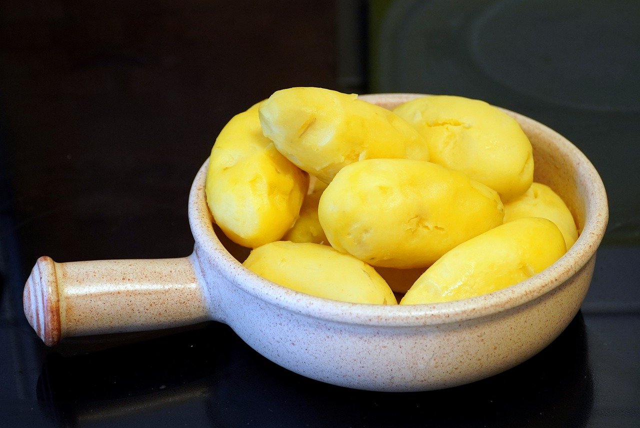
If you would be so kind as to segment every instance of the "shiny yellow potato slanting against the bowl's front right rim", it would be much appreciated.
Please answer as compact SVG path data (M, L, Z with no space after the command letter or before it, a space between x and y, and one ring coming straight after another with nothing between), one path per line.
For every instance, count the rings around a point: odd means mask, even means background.
M400 304L451 302L492 293L545 270L564 252L564 238L553 222L520 218L447 252L422 274Z

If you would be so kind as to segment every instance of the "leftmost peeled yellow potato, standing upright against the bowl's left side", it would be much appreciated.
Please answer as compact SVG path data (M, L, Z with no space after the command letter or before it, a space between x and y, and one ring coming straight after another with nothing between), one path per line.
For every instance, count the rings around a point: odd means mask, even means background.
M211 149L205 192L220 229L244 247L279 240L298 217L308 176L262 135L258 106L237 114Z

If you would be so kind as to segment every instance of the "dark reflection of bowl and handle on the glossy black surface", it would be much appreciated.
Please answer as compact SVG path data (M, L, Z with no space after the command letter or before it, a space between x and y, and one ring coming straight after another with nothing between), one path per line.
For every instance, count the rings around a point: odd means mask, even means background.
M593 401L586 348L578 316L552 346L508 373L440 392L380 394L301 378L248 349L227 327L211 325L89 355L49 355L37 389L43 413L72 425L175 406L198 409L194 416L200 412L214 426L537 426L552 408L563 426L578 427Z

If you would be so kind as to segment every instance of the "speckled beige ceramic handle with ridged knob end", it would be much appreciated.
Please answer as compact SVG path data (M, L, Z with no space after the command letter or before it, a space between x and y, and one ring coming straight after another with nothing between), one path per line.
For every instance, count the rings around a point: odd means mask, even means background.
M63 337L157 330L212 319L194 254L180 259L56 263L40 257L24 286L29 324Z

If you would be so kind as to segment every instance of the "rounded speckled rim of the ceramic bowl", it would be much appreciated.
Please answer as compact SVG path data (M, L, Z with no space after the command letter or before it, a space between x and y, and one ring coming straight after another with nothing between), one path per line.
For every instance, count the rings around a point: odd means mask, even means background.
M374 103L406 102L428 94L382 93L362 95L360 98ZM500 108L500 107L499 107ZM552 139L557 149L573 160L575 171L583 183L589 183L582 233L571 248L547 269L514 286L490 294L424 305L369 305L329 300L294 291L264 279L244 268L222 245L212 227L212 218L206 203L205 179L209 159L196 174L189 192L189 224L196 241L196 254L204 250L211 267L242 291L282 309L308 317L372 326L427 326L460 323L532 302L571 279L595 256L605 233L609 217L607 195L602 179L588 158L570 141L531 118L502 109L519 123L534 126L541 134ZM202 257L202 256L201 256ZM207 266L207 263L203 263ZM215 284L205 284L216 287ZM211 294L210 295L218 295ZM221 297L224 300L224 297ZM217 302L222 307L224 302Z

